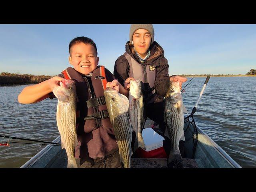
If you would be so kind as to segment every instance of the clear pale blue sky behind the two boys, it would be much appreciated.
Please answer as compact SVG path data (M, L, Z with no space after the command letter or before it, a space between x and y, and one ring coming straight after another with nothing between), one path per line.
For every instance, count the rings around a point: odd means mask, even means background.
M172 74L246 74L256 69L256 24L153 24ZM0 72L55 76L71 66L78 36L97 46L99 65L113 73L130 24L0 24Z

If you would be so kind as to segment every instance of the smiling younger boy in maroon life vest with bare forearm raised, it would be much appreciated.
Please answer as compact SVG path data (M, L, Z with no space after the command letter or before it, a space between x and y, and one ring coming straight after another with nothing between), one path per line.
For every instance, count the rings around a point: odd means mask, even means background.
M80 158L81 168L121 168L103 91L109 86L120 89L120 93L126 96L129 92L104 66L98 66L96 44L90 38L74 38L69 44L69 53L69 62L74 68L69 67L59 76L27 86L18 96L18 101L29 104L55 98L52 91L63 78L76 80L78 146L75 147L75 158Z

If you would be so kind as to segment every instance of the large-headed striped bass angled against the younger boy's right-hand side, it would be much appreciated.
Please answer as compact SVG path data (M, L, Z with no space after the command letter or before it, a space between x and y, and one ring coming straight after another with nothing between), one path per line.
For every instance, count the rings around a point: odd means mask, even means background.
M128 116L129 100L113 88L104 90L106 106L110 122L113 126L118 144L120 161L124 168L131 167L132 156L132 126Z

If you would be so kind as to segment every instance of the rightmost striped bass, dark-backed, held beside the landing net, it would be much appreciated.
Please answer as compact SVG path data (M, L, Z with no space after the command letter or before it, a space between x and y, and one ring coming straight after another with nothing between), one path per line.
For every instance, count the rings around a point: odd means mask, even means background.
M183 167L179 150L179 142L185 140L183 112L186 112L186 108L183 105L179 82L171 81L164 100L164 122L171 140L169 167Z

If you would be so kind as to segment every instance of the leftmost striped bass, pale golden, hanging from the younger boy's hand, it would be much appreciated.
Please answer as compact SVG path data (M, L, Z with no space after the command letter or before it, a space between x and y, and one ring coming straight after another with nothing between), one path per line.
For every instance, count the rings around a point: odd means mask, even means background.
M76 85L74 80L63 80L60 86L53 90L58 98L57 126L61 136L62 149L68 156L68 168L78 168L74 156L75 146L78 145L76 136Z

